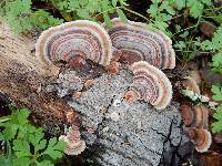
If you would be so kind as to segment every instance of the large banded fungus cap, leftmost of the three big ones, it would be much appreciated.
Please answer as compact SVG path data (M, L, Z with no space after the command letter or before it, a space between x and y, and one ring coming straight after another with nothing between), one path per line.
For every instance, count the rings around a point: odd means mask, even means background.
M112 59L112 43L107 31L87 20L67 22L42 32L36 44L36 54L47 64L71 61L81 55L103 66Z

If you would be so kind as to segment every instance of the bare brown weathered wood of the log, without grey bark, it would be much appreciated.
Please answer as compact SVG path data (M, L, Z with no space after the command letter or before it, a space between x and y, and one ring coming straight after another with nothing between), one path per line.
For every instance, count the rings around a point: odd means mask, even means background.
M0 22L0 93L17 106L29 107L33 120L51 134L58 134L65 124L65 112L72 111L64 101L46 91L58 69L46 66L34 55L34 39L16 35Z

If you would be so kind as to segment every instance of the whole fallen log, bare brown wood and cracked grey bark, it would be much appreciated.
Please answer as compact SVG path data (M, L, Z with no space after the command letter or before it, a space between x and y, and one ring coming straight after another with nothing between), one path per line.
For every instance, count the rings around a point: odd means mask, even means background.
M56 134L72 107L80 115L87 154L99 165L180 165L181 156L189 156L192 146L181 127L176 103L157 111L144 102L125 102L124 94L132 83L132 73L125 69L107 74L98 68L95 74L79 75L82 81L73 84L69 77L73 71L56 74L54 68L44 66L34 56L33 49L34 40L14 35L0 24L0 92L18 105L30 107L48 131ZM97 70L103 74L97 74ZM93 81L85 87L89 77ZM82 92L74 93L77 90ZM173 154L179 156L176 163Z

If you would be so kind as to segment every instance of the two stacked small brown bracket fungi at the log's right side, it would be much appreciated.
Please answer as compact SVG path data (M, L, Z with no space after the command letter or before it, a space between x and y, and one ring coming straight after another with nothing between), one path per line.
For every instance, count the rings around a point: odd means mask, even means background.
M212 143L209 129L209 108L204 105L181 106L181 114L184 120L185 129L195 144L198 152L206 152Z

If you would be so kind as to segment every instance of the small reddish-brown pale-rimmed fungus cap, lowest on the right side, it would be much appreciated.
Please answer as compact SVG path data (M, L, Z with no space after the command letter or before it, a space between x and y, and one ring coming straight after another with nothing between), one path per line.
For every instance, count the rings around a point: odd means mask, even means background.
M186 132L195 143L195 149L200 153L206 152L212 143L211 133L206 129L188 127Z

